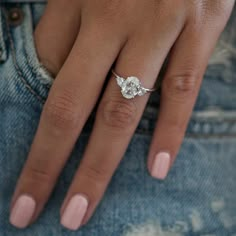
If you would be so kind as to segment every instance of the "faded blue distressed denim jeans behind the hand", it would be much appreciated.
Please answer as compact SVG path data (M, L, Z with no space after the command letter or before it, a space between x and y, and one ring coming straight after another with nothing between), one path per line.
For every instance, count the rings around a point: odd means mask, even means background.
M177 161L154 180L146 156L159 109L153 93L136 133L90 222L70 232L59 208L86 146L94 114L79 137L39 220L8 222L9 204L53 78L40 65L33 28L44 4L17 4L21 24L0 11L0 236L236 236L236 9L209 67Z

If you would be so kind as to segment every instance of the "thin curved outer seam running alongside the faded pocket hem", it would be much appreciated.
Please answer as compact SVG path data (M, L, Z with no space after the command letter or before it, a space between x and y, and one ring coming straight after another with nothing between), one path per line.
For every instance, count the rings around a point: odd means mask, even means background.
M6 16L5 16L6 17ZM13 38L10 32L10 26L7 23L7 36L10 42L10 51L11 51L11 55L12 55L12 59L13 59L13 63L16 69L16 72L20 78L20 80L22 81L22 83L24 84L24 86L28 89L28 91L33 94L42 104L44 104L44 99L41 98L41 96L39 96L34 89L30 86L30 84L27 82L27 80L24 78L22 71L20 69L20 67L18 66L17 60L16 60L16 55L15 55L15 48L14 48L14 43L13 43Z

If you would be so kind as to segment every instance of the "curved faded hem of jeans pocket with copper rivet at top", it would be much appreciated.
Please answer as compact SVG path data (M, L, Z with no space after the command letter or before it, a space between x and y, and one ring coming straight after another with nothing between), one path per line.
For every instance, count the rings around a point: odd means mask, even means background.
M38 5L38 7L36 7ZM4 4L8 60L23 85L42 103L46 100L53 77L40 63L34 41L35 15L43 14L45 4ZM35 9L40 11L35 12Z

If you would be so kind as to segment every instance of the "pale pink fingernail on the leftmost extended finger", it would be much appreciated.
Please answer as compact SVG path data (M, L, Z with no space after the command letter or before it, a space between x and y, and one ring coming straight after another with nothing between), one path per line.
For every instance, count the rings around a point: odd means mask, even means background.
M20 196L12 208L10 223L17 228L25 228L29 225L36 207L35 200L27 195Z

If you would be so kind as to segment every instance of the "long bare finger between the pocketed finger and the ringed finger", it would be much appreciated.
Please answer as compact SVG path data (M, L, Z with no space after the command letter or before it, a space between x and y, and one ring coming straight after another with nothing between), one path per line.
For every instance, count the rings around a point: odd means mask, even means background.
M121 39L94 34L81 28L52 86L13 196L10 221L16 227L26 227L44 207L120 50Z

